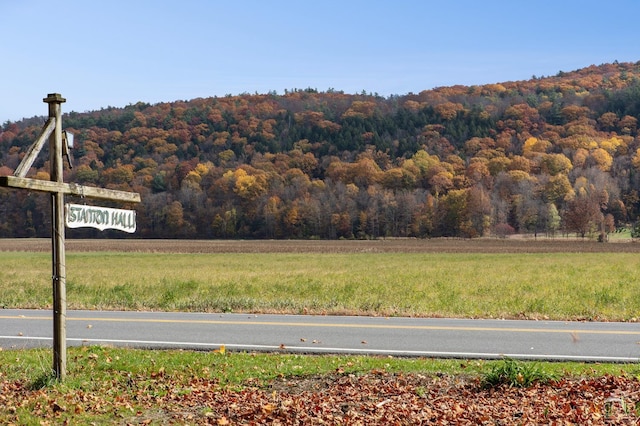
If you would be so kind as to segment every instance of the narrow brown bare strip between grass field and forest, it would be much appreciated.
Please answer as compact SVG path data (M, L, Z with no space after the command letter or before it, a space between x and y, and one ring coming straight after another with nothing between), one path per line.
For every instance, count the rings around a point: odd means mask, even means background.
M556 239L137 240L67 239L68 252L139 253L640 253L637 242ZM0 239L0 251L51 251L46 238Z

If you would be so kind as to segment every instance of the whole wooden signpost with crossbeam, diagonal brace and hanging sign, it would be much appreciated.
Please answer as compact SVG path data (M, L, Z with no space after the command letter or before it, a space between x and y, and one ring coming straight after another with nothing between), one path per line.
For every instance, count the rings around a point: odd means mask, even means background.
M61 104L66 102L58 93L51 93L43 99L49 104L49 118L42 128L38 139L29 147L13 176L0 176L0 186L47 192L51 195L51 258L53 281L53 373L58 380L64 380L67 372L67 291L65 260L65 194L82 198L97 198L111 201L139 203L140 194L64 183L63 153L69 147L63 146ZM45 140L49 140L50 180L43 181L27 178L26 175L42 149ZM69 162L71 164L71 162ZM113 211L117 209L105 209ZM127 217L126 232L135 230L135 211L120 210L112 215L120 218L118 223L99 224L101 230L121 229L122 218ZM131 219L133 218L133 219ZM96 227L94 223L75 223L72 227Z

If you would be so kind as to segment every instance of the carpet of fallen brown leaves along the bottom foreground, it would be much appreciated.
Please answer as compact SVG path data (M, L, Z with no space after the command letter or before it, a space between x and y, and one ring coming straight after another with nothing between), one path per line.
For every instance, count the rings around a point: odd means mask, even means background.
M133 424L635 424L640 405L640 381L618 376L524 388L486 388L469 377L343 369L241 388L208 378L184 382L163 369L130 379L126 386L115 378L93 383L91 391L0 380L0 419L20 424L26 410L52 424L96 413Z

